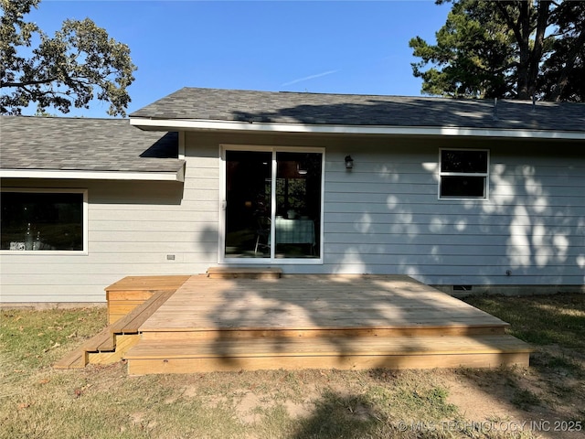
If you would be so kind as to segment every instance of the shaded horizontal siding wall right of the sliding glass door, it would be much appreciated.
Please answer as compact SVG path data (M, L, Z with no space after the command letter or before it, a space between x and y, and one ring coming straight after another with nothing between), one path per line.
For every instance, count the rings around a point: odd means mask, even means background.
M429 284L584 284L582 154L539 146L533 155L522 145L513 155L518 145L499 141L477 147L491 152L485 200L438 199L434 145L415 155L403 145L404 154L364 148L352 154L351 172L330 166L324 271L406 273ZM344 154L330 148L330 165Z

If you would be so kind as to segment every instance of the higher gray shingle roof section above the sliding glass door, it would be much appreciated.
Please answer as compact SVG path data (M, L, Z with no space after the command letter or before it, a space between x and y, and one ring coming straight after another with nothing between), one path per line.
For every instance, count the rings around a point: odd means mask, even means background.
M585 132L585 103L184 88L131 118Z

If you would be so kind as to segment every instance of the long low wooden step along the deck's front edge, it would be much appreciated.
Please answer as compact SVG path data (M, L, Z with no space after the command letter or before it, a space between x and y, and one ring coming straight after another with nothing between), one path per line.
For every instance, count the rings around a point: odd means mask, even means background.
M434 369L527 366L531 348L511 336L252 338L168 344L141 340L128 372L197 373L258 369Z

